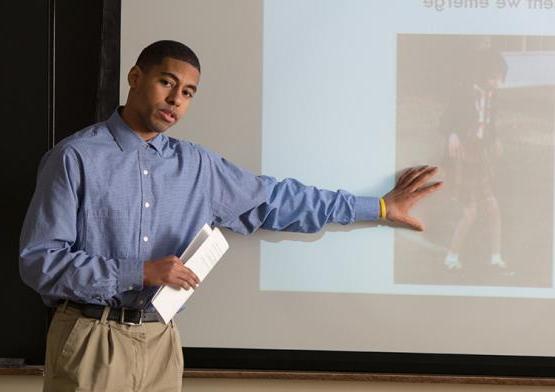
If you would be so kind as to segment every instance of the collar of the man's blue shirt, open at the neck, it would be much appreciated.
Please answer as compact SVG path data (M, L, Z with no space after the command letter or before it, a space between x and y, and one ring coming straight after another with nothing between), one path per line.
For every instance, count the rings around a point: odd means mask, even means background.
M114 110L114 113L106 121L110 133L114 137L117 145L122 151L135 151L139 148L145 148L150 146L160 155L163 156L163 148L167 142L167 137L159 133L155 138L145 142L135 131L133 131L129 125L123 121L119 114L119 110L122 107Z

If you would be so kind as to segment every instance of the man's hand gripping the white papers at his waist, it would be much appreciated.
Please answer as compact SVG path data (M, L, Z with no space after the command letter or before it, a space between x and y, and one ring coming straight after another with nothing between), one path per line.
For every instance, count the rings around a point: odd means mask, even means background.
M177 256L166 256L144 264L143 284L145 286L170 285L185 290L196 288L200 283L193 271L185 267Z

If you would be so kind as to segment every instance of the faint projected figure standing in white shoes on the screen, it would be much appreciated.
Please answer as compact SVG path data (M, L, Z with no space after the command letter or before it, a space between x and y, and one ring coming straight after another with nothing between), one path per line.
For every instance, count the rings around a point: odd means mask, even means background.
M501 214L495 197L494 161L502 153L496 132L496 90L507 74L501 53L492 49L478 50L468 70L468 79L454 91L442 121L448 132L448 156L454 170L455 194L462 205L462 215L455 225L444 260L449 270L463 267L460 253L467 234L483 216L488 225L490 265L507 267L501 253Z

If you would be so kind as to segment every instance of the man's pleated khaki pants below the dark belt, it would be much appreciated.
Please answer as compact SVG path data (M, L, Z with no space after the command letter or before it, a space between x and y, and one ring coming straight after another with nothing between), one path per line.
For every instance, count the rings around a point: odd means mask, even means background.
M183 355L174 323L122 325L60 305L46 341L44 392L181 392Z

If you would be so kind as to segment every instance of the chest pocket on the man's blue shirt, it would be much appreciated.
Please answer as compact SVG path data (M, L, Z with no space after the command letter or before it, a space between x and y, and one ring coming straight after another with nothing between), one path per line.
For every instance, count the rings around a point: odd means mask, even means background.
M109 258L127 258L131 244L127 211L108 208L88 210L85 227L87 253Z

